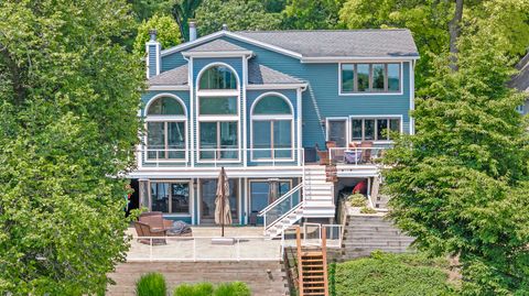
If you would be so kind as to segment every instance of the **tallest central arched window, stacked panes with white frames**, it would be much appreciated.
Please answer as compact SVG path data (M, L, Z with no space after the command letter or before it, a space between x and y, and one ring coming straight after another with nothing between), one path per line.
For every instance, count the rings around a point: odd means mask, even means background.
M197 113L201 161L239 160L239 95L234 92L235 89L237 76L227 66L212 66L199 77Z

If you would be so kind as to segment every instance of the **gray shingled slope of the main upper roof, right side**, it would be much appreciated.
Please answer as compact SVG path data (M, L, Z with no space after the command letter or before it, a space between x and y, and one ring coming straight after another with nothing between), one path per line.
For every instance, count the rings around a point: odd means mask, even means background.
M282 47L303 57L419 56L409 30L239 31L238 35Z

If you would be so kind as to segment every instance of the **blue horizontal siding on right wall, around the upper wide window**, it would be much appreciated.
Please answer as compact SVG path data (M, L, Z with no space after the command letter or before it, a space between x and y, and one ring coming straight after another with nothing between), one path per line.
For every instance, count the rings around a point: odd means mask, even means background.
M255 61L276 70L289 74L310 84L314 90L315 103L310 91L303 92L303 146L324 144L325 131L322 120L327 117L402 114L403 130L409 131L410 108L410 63L403 66L403 94L384 96L338 96L338 64L302 64L298 58L289 57L241 41L223 37L238 46L255 53Z

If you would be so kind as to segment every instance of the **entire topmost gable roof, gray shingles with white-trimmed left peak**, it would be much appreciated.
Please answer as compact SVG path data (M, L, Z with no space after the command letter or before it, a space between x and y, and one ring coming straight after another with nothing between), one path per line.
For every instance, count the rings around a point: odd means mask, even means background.
M166 48L161 55L193 48L223 36L292 56L302 62L325 58L419 58L411 32L404 29L239 32L222 30Z

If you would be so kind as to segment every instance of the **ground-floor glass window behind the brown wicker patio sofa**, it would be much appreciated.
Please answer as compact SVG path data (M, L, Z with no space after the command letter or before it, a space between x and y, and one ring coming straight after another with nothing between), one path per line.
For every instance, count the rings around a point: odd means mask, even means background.
M150 182L151 211L185 216L191 215L191 186L188 180Z

